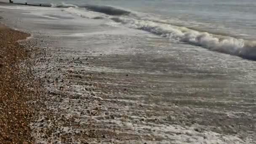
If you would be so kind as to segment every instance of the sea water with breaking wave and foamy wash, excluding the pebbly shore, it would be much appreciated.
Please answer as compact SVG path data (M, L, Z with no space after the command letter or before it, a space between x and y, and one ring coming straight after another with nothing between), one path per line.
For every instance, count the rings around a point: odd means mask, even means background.
M51 37L47 47L65 50L56 57L91 57L93 67L76 69L105 85L102 107L128 115L126 122L95 117L106 124L99 129L135 131L152 136L149 143L255 143L255 0L26 2L45 7L2 3L1 21ZM79 95L80 87L67 93Z

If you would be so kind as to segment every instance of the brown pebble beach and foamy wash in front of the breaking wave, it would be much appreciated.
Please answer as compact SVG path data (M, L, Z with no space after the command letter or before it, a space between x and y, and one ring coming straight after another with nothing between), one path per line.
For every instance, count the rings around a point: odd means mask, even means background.
M0 144L255 143L254 61L120 26L112 7L0 8Z

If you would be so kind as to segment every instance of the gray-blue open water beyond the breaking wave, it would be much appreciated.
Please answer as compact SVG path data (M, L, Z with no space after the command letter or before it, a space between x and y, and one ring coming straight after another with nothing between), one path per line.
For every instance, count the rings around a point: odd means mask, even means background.
M200 30L250 39L256 36L255 0L27 0L27 3L109 5L157 15L158 19L175 20L172 23Z

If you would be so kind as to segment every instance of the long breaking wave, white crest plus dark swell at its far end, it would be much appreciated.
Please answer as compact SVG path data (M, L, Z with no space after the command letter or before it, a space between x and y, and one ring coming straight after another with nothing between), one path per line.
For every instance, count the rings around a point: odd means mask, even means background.
M51 7L67 8L66 11L69 13L88 19L110 18L112 21L115 21L117 24L121 24L122 26L144 30L162 37L168 37L180 42L201 46L211 51L218 51L256 61L256 41L238 39L228 35L217 35L210 32L200 32L196 29L161 23L150 19L138 19L132 17L131 15L131 17L121 17L122 15L131 14L131 11L126 11L111 6L77 6L61 3L59 5L51 4ZM88 11L81 8L85 8ZM103 13L111 16L104 16Z

